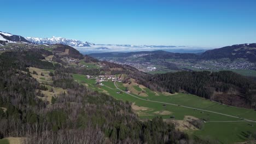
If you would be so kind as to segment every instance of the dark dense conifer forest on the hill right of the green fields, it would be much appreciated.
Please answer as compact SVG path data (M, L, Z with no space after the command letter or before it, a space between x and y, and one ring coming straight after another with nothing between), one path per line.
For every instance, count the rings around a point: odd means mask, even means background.
M184 90L224 104L249 108L256 106L255 80L231 71L181 71L146 77L146 80L139 77L137 80L158 91L175 93Z

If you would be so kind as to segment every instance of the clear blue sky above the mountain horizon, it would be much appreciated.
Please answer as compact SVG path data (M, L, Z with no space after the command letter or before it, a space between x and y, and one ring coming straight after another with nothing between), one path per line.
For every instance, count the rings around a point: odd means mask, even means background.
M13 0L0 31L96 44L220 47L256 43L255 0Z

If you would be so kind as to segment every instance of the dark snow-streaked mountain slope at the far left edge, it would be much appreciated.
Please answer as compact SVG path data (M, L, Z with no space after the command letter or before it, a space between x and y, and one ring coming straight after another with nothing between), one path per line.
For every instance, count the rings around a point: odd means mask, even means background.
M0 31L0 41L7 41L8 43L15 43L17 41L30 43L30 41L26 40L24 37L20 35L13 35L10 33L5 33Z

